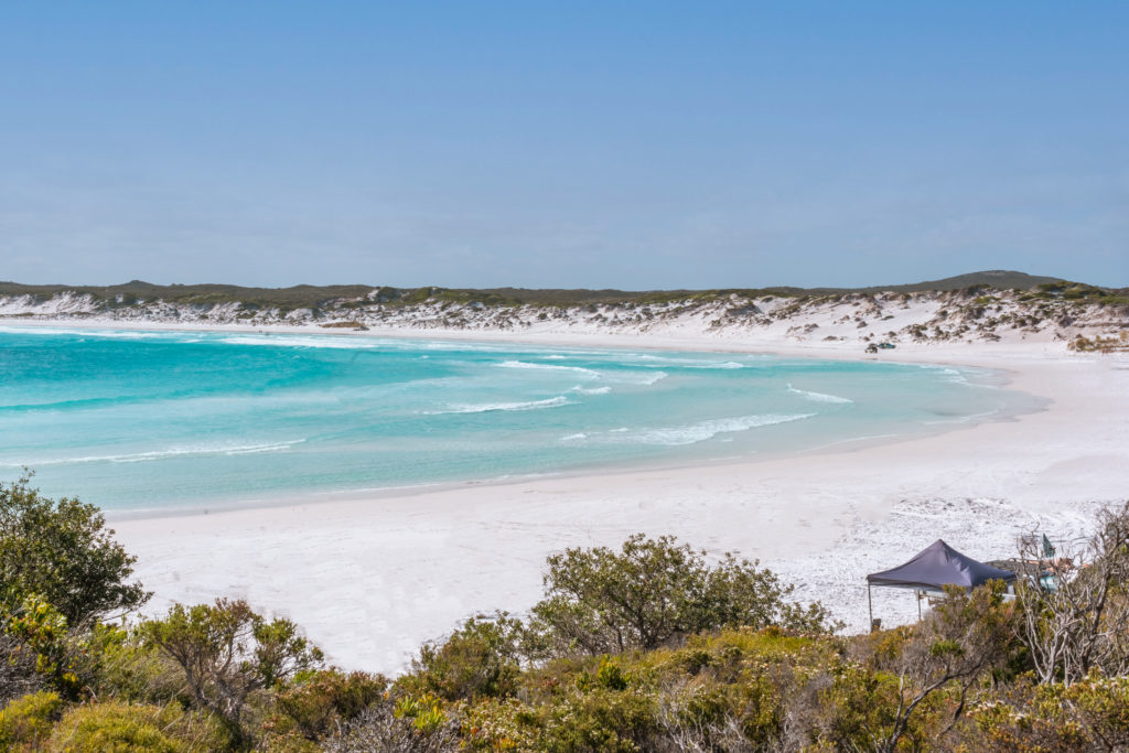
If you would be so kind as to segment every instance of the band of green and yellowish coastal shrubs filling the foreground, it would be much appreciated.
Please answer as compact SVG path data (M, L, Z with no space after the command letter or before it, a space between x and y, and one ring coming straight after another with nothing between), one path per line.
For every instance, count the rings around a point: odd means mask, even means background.
M549 558L530 614L474 615L397 677L242 601L149 594L100 514L0 487L0 750L1114 751L1129 745L1129 505L1017 598L951 589L843 636L756 562L673 537ZM1030 542L1029 542L1030 543ZM1025 566L1025 567L1026 567Z

